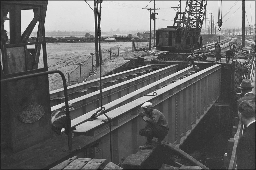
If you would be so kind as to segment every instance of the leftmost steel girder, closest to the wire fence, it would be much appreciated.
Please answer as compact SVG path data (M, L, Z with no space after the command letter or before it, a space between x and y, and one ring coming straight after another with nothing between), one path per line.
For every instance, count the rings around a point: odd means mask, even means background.
M109 76L104 76L102 77L102 84L105 84L109 81L114 81L118 80L118 82L122 82L125 80L129 80L132 77L129 75L132 74L144 74L150 72L152 69L157 68L156 65L154 64L149 64L147 66L142 66L139 68L131 69L128 71L123 71L120 73L112 74ZM91 81L75 84L72 86L68 87L68 95L69 95L69 100L83 96L85 94L91 93L93 91L99 90L99 85L100 85L100 79L94 79ZM105 88L105 85L102 86L102 88ZM57 89L50 91L50 104L51 106L55 106L57 104L63 103L64 101L64 91L63 88Z

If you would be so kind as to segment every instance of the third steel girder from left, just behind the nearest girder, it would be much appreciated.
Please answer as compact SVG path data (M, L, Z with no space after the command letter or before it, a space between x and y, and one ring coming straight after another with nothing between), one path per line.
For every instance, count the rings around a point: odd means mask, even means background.
M169 85L173 82L176 82L180 79L183 79L186 76L189 76L189 75L193 74L194 73L193 69L194 68L187 67L183 70L180 70L176 73L173 73L169 76L166 76L163 79L160 79L160 80L158 80L156 82L153 82L153 83L151 83L147 86L144 86L144 87L142 87L138 90L135 90L135 91L133 91L133 92L121 97L121 98L118 98L114 101L111 101L111 102L104 105L104 107L106 108L105 111L109 112L111 110L114 110L114 109L116 109L120 106L123 106L124 104L127 104L127 103L129 103L133 100L136 100L136 99L144 96L145 94L149 94L149 93L151 93L151 92L153 92L153 91L155 91L159 88L162 88L166 85ZM94 109L94 110L92 110L92 111L90 111L86 114L83 114L82 116L79 116L79 117L73 119L71 121L71 126L75 127L75 126L78 126L78 125L88 121L91 118L91 115L94 114L95 112L97 112L99 109L100 108Z

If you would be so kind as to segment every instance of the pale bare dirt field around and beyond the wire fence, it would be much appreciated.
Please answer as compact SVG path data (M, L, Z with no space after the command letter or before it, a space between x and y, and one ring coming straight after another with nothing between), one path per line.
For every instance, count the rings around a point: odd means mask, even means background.
M223 39L224 37L221 37ZM210 39L203 40L204 44L217 42L218 36L212 37ZM101 43L101 49L109 49L110 47L119 45L119 57L107 58L102 63L102 75L112 71L116 67L120 67L129 60L125 58L132 58L135 56L145 55L144 51L132 52L131 42L110 42ZM99 67L93 67L93 71L96 72L95 75L89 76L89 72L92 71L92 60L88 58L90 53L95 52L94 43L46 43L47 49L47 63L48 70L60 70L66 75L66 80L68 81L68 72L70 74L70 80L80 82L80 68L79 63L83 62L81 65L81 81L89 81L99 78ZM154 50L154 48L153 48ZM112 52L112 51L111 51ZM116 52L115 52L116 53ZM152 58L154 58L152 56ZM39 67L42 68L42 52L40 54ZM95 56L93 55L93 64L95 64ZM70 84L76 84L75 82L70 82ZM50 91L62 88L61 77L58 74L49 75L49 88Z

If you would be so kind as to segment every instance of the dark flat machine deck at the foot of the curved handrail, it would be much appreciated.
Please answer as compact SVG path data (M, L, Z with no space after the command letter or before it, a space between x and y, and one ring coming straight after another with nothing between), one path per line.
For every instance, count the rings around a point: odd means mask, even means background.
M1 169L49 169L100 141L98 137L72 138L73 150L68 151L67 136L57 136L1 159Z

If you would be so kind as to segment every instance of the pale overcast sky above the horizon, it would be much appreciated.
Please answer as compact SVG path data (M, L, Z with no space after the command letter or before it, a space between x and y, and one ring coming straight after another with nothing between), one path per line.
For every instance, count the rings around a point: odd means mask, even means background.
M93 1L87 1L93 8ZM222 29L242 27L242 1L222 1ZM149 4L148 4L149 3ZM179 1L158 1L156 0L156 29L173 25ZM186 1L182 0L181 11L185 10ZM101 30L110 31L120 30L149 30L149 11L145 8L154 8L154 1L105 1L101 8ZM255 0L245 1L246 25L255 23ZM208 0L206 10L218 21L218 0ZM32 10L22 11L22 31L24 31L33 18ZM211 16L211 15L210 15ZM208 12L206 15L208 18ZM249 24L248 24L249 22ZM153 29L153 20L152 20ZM6 30L9 30L9 22L4 23ZM208 19L206 21L208 25ZM216 24L217 25L217 24ZM206 26L207 28L207 26ZM204 29L204 27L202 28ZM94 12L84 0L81 1L48 1L45 19L45 30L60 31L93 31Z

